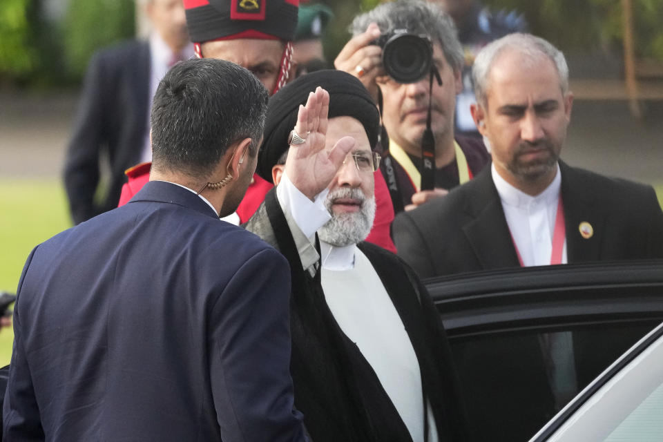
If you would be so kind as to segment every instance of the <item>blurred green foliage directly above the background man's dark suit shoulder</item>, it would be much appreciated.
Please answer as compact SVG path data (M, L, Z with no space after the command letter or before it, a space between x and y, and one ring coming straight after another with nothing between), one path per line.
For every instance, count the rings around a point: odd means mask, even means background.
M133 0L70 0L64 20L68 74L80 77L95 50L135 35Z

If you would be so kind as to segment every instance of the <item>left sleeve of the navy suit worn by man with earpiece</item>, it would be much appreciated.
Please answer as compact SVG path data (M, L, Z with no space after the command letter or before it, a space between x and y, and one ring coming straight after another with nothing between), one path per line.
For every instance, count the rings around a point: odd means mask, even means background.
M21 288L35 250L37 249L32 250L25 267L23 267L23 274L17 290L17 301L14 306L14 349L12 350L9 381L3 403L3 441L44 441L44 429L41 427L39 406L32 386L26 351L21 339Z

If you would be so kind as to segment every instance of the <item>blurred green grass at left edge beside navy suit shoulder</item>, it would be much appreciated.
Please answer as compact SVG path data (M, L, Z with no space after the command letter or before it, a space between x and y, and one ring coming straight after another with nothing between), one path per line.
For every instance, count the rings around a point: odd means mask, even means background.
M70 225L59 180L0 180L0 290L15 293L32 248ZM0 367L10 361L13 340L12 330L2 329Z

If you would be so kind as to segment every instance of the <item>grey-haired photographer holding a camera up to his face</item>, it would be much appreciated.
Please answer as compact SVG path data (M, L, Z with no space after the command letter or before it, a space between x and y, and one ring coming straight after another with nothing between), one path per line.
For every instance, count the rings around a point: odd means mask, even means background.
M454 138L456 95L462 88L464 61L452 19L433 3L399 0L355 17L351 31L354 37L336 57L334 66L358 77L376 102L381 103L383 125L390 140L388 146L383 144L381 170L390 188L394 211L414 209L444 196L449 189L479 173L490 157L486 148L475 139ZM393 37L404 33L411 38L396 44ZM390 50L394 57L387 57L385 66L382 46L390 46L392 41ZM432 81L431 86L427 72L415 81L394 79L393 73L387 74L390 67L408 70L408 66L399 66L408 61L412 62L412 70L417 70L423 62L419 57L421 41L430 41L430 61L441 84ZM434 189L422 191L422 139L429 99Z

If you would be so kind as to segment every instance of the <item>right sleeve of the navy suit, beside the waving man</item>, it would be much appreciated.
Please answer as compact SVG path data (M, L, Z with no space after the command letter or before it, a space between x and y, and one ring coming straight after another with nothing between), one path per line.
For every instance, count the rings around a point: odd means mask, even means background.
M247 260L210 317L212 394L224 441L305 441L294 409L287 261L274 249Z

